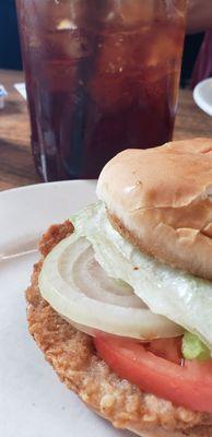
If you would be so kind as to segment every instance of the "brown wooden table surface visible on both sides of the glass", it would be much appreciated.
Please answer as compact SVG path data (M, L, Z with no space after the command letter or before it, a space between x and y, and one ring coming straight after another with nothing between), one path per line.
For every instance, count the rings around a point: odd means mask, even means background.
M23 72L0 70L0 83L9 93L0 110L0 191L42 182L31 154L26 103L13 86L23 81ZM212 119L196 106L191 91L181 90L174 138L195 137L212 138Z

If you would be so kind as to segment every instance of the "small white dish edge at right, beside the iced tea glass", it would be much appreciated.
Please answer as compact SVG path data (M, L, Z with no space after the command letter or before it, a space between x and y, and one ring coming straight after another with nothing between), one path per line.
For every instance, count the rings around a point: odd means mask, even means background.
M193 98L200 109L212 116L212 78L198 83L193 91Z

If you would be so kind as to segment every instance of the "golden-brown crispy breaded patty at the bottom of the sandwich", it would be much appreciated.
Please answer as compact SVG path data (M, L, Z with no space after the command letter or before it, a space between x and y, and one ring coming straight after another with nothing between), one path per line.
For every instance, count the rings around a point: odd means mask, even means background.
M69 221L51 226L39 244L43 257L72 232ZM40 296L42 264L43 260L35 264L26 291L28 328L61 381L116 427L134 428L138 433L178 429L185 436L210 437L212 414L176 408L172 402L141 392L110 370L96 355L92 338L71 327Z

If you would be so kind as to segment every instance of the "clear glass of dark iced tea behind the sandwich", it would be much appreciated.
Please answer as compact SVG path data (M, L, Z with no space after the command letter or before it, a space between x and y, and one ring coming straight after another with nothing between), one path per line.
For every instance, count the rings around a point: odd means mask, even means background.
M16 0L45 181L96 178L116 153L172 140L186 0Z

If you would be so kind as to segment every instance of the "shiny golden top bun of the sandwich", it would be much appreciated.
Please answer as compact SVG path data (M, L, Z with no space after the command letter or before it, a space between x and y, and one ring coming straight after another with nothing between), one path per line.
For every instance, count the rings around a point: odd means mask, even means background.
M212 140L126 150L103 168L97 196L140 250L212 280Z

